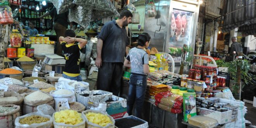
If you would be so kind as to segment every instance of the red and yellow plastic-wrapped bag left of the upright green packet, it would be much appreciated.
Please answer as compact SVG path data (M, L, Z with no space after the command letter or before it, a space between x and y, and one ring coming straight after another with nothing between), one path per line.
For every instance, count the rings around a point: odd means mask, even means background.
M180 95L176 95L170 92L160 92L155 96L156 106L163 104L174 109L180 109L182 107L183 98Z

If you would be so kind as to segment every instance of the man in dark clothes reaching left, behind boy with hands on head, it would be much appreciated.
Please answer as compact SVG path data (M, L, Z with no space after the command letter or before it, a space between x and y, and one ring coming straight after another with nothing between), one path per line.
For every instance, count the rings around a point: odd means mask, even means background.
M57 42L58 42L60 36L65 36L65 32L66 32L67 26L69 24L69 22L68 22L69 11L61 13L61 14L57 14L57 10L54 7L52 10L50 10L50 12L46 12L39 18L43 18L43 17L49 16L49 15L54 17L54 30L55 30L55 33L57 36ZM62 48L61 48L60 43L56 43L56 52L55 53L57 55L62 55Z

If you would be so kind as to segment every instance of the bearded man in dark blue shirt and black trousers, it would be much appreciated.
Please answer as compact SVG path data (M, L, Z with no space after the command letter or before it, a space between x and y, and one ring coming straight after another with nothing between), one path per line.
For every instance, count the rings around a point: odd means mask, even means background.
M113 95L120 92L125 48L128 42L125 27L131 23L131 18L132 13L123 10L117 20L109 21L102 27L97 42L98 90L112 92Z

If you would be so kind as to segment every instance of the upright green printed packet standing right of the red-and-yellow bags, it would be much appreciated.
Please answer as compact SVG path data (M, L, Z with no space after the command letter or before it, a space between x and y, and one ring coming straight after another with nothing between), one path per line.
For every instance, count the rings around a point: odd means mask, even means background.
M196 116L195 93L183 93L183 113L185 122Z

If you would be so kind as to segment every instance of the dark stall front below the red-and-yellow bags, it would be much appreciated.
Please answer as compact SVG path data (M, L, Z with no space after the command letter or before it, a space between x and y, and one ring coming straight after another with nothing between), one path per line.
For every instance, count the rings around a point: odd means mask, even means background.
M154 128L186 128L182 124L183 113L173 114L155 106L154 102L144 100L142 119Z

